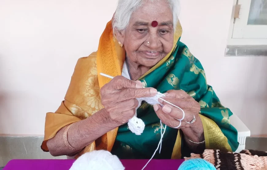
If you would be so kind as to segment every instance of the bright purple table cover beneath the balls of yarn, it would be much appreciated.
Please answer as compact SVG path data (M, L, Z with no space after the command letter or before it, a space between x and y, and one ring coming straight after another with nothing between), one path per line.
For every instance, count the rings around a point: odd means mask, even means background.
M3 170L69 170L75 160L11 160ZM125 170L141 170L148 160L121 160ZM149 162L145 170L177 170L184 160L157 160Z

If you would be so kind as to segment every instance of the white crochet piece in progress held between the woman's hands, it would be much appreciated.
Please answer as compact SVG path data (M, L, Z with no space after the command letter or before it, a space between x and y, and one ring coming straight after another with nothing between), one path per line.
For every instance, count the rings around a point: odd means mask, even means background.
M141 135L141 133L145 129L145 123L143 122L143 120L137 118L137 109L141 106L142 101L146 101L148 104L151 104L151 105L161 104L160 102L158 102L158 98L162 97L162 96L165 96L165 95L158 92L157 95L153 96L153 97L137 98L138 106L135 109L135 115L133 118L129 119L129 121L128 121L128 127L133 133L135 133L136 135Z

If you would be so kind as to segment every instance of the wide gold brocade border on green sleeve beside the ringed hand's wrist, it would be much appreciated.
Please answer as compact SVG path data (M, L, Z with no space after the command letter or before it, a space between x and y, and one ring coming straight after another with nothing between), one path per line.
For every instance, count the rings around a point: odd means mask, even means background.
M213 120L200 114L199 116L203 124L206 149L220 149L225 152L232 152L228 139L219 126Z

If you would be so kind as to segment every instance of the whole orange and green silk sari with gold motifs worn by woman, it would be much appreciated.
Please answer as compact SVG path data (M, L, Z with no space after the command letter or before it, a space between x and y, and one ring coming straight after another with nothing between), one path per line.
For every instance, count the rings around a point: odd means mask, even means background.
M206 149L235 151L238 141L237 130L229 119L232 112L222 106L213 88L207 84L201 63L190 53L188 47L180 42L181 34L182 28L178 23L172 51L139 80L145 87L156 88L161 93L171 89L182 89L187 92L201 106L199 116L203 124ZM100 88L110 79L101 76L100 73L121 75L124 61L125 50L114 38L110 21L100 37L98 51L78 60L60 107L54 113L46 114L44 141L41 145L43 151L49 151L47 141L61 128L86 119L103 108ZM124 124L86 146L76 154L76 158L95 149L108 150L120 158L150 158L160 140L160 120L153 107L145 102L137 110L137 117L146 125L141 135L135 135L127 124ZM191 153L184 142L182 131L170 127L166 129L162 150L165 152L156 155L155 158L180 159Z

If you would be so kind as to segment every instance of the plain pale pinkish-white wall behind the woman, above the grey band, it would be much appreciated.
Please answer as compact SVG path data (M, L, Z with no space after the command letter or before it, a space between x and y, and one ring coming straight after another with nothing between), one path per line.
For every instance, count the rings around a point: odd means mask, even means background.
M232 0L181 0L182 42L222 104L267 134L267 58L224 57ZM114 0L0 1L0 134L44 134L79 57L96 51Z

